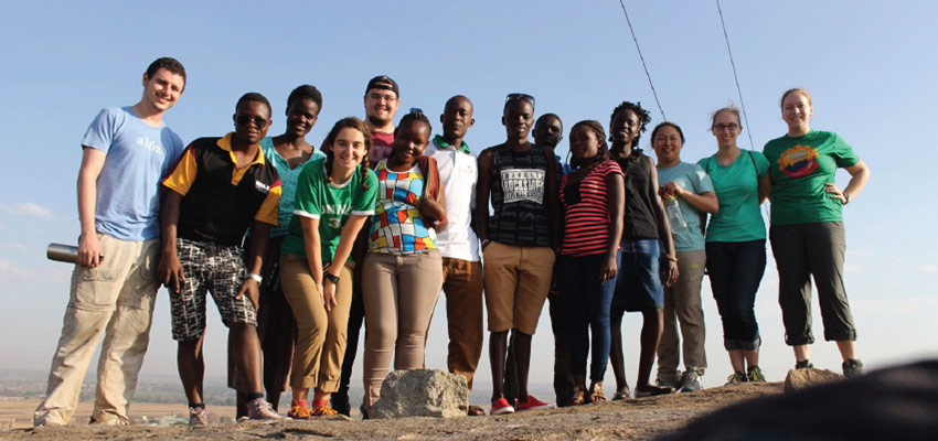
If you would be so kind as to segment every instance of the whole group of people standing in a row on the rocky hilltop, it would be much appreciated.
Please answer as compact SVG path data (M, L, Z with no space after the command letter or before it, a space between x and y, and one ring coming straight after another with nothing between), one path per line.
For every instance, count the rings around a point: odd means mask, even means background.
M788 132L761 153L736 144L742 122L729 106L713 114L716 153L697 163L682 161L678 125L654 127L655 163L639 148L650 115L630 101L612 110L608 136L596 120L573 125L563 161L554 153L561 118L535 120L526 94L507 96L505 140L477 158L466 141L475 123L469 98L446 101L436 133L419 109L395 127L401 95L386 75L365 88L365 119L339 120L318 149L306 140L322 109L313 86L290 93L283 135L267 137L270 103L248 93L235 105L233 132L183 148L162 122L185 87L182 64L154 61L142 85L139 103L102 110L82 141L79 262L36 426L71 420L103 334L92 422L127 423L160 284L170 291L194 427L207 424L209 292L230 329L238 417L249 419L284 418L277 409L288 387L289 418L349 415L362 326L367 418L392 361L394 369L425 367L440 291L447 368L470 388L488 318L492 415L554 406L527 391L532 336L547 300L558 405L606 400L609 362L612 399L697 390L706 368L705 270L729 381L765 381L754 308L767 198L796 368L811 366L813 276L824 338L836 342L846 376L862 373L843 288L842 209L870 173L840 137L810 128L804 89L782 95ZM851 174L844 189L834 183L838 168ZM633 392L623 367L626 311L643 318ZM470 406L469 415L484 410Z

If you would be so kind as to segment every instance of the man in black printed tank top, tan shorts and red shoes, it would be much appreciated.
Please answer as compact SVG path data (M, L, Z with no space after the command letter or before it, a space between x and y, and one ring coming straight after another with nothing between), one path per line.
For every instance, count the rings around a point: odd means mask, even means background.
M508 140L479 155L476 226L491 332L492 415L553 407L527 394L531 337L551 288L557 230L557 165L553 152L529 142L533 122L534 98L509 95L502 115ZM508 402L503 389L509 331L514 333L518 402Z

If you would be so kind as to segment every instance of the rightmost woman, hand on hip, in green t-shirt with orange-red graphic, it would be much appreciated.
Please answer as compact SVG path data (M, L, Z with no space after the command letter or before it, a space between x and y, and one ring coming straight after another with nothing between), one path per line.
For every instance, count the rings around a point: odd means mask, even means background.
M870 170L836 133L812 130L811 95L802 88L781 96L781 118L788 135L766 143L771 180L769 240L778 267L778 295L785 341L795 349L796 368L811 367L811 286L814 277L824 322L824 340L835 341L843 373L863 373L856 358L856 329L843 287L846 246L843 207L870 179ZM836 169L850 173L841 190Z

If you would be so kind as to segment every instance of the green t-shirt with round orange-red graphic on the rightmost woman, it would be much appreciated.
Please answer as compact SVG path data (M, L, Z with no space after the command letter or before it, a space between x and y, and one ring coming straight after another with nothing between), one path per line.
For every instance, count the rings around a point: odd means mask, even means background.
M843 219L843 205L824 191L824 184L834 182L838 168L855 165L860 157L836 133L784 136L766 143L763 153L771 164L772 225Z

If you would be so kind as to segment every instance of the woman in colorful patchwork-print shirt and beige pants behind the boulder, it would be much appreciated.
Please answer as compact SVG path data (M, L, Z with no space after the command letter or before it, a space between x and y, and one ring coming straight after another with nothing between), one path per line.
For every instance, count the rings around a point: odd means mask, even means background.
M436 161L424 155L430 122L419 110L401 119L391 158L377 163L377 204L362 268L365 303L364 416L395 369L424 367L426 333L443 284L434 229L446 227Z

